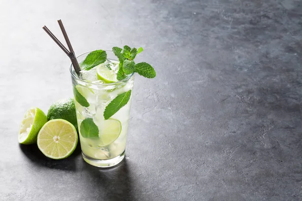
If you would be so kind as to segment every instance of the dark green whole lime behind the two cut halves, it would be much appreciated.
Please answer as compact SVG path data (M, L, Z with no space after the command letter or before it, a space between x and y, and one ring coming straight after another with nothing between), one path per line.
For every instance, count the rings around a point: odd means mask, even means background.
M71 123L78 130L77 114L73 98L60 99L52 104L47 113L47 119L63 119Z

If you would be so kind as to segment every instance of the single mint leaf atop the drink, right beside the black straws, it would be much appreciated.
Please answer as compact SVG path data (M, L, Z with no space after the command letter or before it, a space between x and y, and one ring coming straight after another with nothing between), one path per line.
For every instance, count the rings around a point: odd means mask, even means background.
M87 55L85 60L80 63L82 70L90 70L93 67L104 63L107 59L107 53L104 50L95 50Z

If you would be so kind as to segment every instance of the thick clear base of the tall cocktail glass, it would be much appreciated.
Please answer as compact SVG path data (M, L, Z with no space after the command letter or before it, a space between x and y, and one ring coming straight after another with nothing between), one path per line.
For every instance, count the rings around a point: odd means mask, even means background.
M101 159L95 159L87 156L83 151L82 151L82 156L83 159L88 163L96 167L112 167L117 164L119 164L124 158L125 158L125 151L118 155L115 158L107 159L107 160L101 160Z

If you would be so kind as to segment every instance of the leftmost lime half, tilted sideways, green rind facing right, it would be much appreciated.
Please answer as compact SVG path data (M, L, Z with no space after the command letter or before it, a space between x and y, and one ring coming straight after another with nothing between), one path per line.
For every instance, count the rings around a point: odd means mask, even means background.
M46 122L47 117L39 108L30 108L28 111L26 111L19 130L19 143L36 143L37 135Z

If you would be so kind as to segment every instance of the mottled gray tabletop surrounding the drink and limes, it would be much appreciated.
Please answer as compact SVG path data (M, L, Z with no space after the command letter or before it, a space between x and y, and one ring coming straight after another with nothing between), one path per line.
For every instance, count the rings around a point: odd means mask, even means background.
M301 200L301 1L1 1L1 200ZM19 146L24 112L72 95L77 54L129 45L126 160L109 170Z

